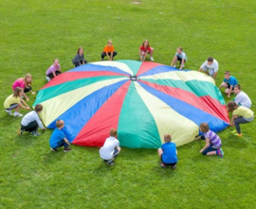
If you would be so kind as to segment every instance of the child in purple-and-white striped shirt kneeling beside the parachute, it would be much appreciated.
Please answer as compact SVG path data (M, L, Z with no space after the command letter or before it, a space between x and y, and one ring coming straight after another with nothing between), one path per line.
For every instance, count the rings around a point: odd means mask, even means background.
M213 131L210 131L208 123L200 124L200 131L204 133L202 136L198 136L196 139L203 139L206 141L204 148L200 150L203 155L219 155L224 156L222 150L222 143L220 137Z

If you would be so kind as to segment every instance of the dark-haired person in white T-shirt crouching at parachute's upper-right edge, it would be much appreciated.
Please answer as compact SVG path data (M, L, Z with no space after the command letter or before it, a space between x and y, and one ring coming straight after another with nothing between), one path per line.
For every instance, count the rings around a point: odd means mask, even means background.
M219 63L218 61L214 60L213 58L209 57L207 61L205 61L201 67L199 68L199 71L204 71L207 75L212 77L213 79L216 78L217 72L219 70Z

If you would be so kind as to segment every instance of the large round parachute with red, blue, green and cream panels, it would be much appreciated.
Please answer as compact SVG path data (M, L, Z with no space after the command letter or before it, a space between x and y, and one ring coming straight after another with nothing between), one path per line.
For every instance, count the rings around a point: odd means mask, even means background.
M199 124L229 126L225 100L214 80L155 62L98 61L52 79L38 93L41 118L50 129L63 119L66 138L101 147L111 128L120 146L159 148L164 133L177 146L193 140Z

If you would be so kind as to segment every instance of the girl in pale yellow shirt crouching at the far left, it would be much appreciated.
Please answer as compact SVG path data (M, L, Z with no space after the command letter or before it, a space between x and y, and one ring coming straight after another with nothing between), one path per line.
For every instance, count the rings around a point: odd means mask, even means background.
M15 109L15 113L13 113L13 116L23 116L23 114L19 113L20 108L23 108L27 111L30 110L27 103L21 98L23 96L23 89L20 87L16 87L14 89L14 93L10 96L8 96L4 102L4 108L6 109L6 112L11 115L11 110Z

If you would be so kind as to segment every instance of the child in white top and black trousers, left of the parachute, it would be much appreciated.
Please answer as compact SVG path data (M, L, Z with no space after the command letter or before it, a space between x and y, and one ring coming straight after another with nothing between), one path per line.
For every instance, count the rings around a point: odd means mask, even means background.
M19 128L19 134L22 135L24 131L30 132L32 136L38 136L40 133L37 132L38 127L40 127L43 131L46 131L46 128L43 126L42 121L39 118L39 113L43 110L43 106L41 104L37 104L35 106L35 110L27 113L21 121L21 128Z

